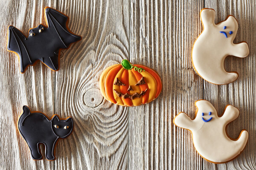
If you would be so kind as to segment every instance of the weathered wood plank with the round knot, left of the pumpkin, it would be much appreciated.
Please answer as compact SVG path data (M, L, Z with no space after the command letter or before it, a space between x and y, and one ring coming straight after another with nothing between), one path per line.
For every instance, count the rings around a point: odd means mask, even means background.
M57 9L70 16L70 29L83 39L63 51L56 73L56 113L72 116L75 128L57 146L55 169L127 169L128 108L102 102L99 77L129 58L130 4L58 1Z

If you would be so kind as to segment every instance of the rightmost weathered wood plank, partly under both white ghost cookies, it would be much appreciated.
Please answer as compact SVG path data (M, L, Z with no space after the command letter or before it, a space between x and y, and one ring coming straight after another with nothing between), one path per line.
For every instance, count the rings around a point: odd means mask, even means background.
M228 85L212 85L204 82L204 98L212 102L219 114L226 105L234 105L239 108L239 117L227 127L227 133L232 138L237 138L242 129L249 132L247 146L239 157L226 164L214 165L204 161L204 169L256 169L256 145L255 145L255 42L256 42L256 7L255 1L225 1L206 0L205 7L216 11L215 23L225 20L228 15L236 17L239 29L235 43L246 41L249 45L250 54L246 58L228 57L225 60L227 71L237 71L239 78Z

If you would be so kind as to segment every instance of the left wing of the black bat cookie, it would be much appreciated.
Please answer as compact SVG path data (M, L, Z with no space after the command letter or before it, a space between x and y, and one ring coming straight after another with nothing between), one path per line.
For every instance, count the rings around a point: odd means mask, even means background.
M19 56L21 73L24 73L27 65L33 64L29 51L26 48L25 40L26 37L20 30L14 26L9 26L7 49Z

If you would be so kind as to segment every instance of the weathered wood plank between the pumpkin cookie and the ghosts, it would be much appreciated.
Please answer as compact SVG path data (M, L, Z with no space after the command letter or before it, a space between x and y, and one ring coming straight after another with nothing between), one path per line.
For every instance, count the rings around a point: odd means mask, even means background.
M131 62L157 70L163 91L154 102L129 110L129 169L202 168L191 135L172 119L180 111L193 117L194 102L203 97L203 81L191 64L203 6L204 1L131 1Z

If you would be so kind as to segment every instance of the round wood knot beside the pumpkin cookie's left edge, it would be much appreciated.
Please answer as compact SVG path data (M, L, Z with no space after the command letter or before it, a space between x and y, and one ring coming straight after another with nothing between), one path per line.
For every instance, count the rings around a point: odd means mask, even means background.
M99 106L103 101L103 96L99 88L90 88L84 94L84 104L90 108Z

